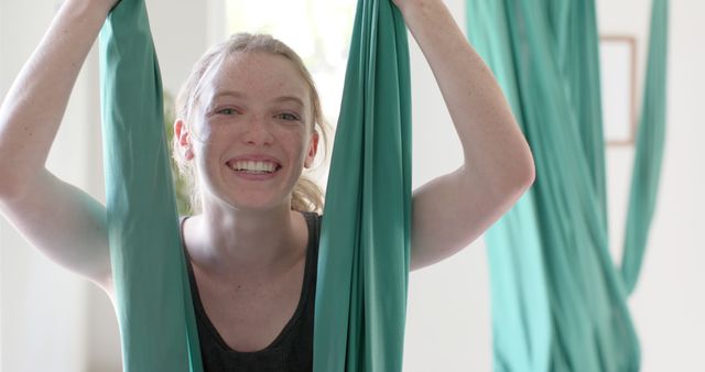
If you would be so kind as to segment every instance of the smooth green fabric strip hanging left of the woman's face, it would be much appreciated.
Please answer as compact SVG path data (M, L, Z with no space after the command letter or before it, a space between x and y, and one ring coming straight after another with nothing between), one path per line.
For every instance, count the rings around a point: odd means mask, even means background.
M110 260L129 372L203 371L143 0L122 0L100 34Z

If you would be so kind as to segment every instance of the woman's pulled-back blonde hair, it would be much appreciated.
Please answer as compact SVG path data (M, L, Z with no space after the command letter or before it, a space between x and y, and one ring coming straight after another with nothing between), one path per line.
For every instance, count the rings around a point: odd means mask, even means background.
M313 129L317 131L321 136L324 153L327 152L326 143L328 125L323 117L321 99L311 73L308 73L308 69L306 69L306 66L304 66L303 61L296 52L271 35L238 33L206 52L206 54L196 62L191 75L181 88L175 105L176 118L184 120L187 125L191 123L191 116L196 102L198 101L203 87L207 83L207 77L213 72L217 70L226 57L236 53L269 53L283 56L292 62L301 74L301 77L308 86L312 101ZM178 168L178 173L182 175L189 188L191 210L192 212L198 212L200 211L202 204L196 169L193 162L186 161L180 151L178 139L176 136L174 136L173 140L172 153L174 162ZM321 187L313 179L310 179L306 175L302 174L292 193L291 209L322 212L323 203L324 196Z

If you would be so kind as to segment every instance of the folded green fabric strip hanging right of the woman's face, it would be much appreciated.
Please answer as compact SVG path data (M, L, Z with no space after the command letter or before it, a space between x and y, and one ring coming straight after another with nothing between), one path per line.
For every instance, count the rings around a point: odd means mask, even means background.
M411 223L406 29L359 0L323 217L315 372L401 371Z

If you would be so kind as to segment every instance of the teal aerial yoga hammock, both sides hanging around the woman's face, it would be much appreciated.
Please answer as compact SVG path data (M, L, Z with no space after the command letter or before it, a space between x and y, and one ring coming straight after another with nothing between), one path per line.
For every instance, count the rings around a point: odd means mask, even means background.
M321 237L314 371L401 371L409 272L406 33L360 0ZM203 371L143 0L100 34L110 256L124 371Z

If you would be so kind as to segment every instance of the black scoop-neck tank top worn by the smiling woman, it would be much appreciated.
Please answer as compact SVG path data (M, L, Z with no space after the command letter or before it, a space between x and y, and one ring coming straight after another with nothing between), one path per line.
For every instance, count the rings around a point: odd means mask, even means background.
M186 260L205 372L310 372L313 370L313 318L321 216L305 212L304 217L308 226L308 245L299 306L276 339L260 351L240 352L228 347L206 315L191 260ZM185 218L182 219L182 226L184 220Z

